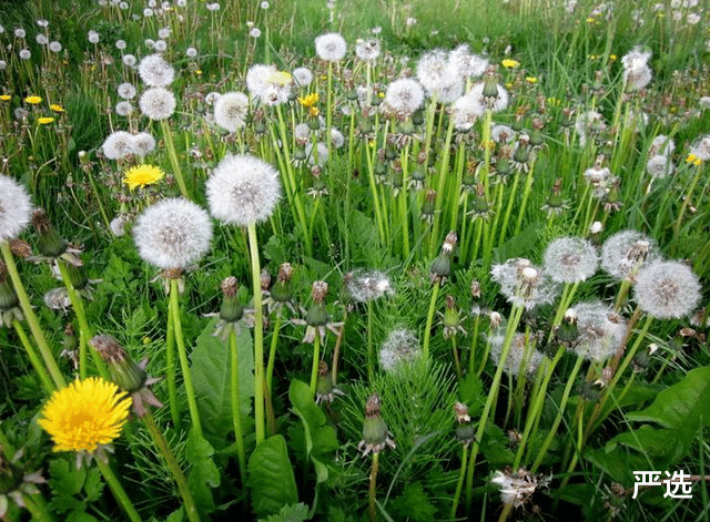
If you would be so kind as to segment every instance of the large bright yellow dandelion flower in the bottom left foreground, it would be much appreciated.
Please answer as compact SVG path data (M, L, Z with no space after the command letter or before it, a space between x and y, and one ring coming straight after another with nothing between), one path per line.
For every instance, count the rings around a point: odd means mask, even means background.
M92 453L121 434L131 402L113 382L90 377L54 391L38 423L54 441L54 451Z

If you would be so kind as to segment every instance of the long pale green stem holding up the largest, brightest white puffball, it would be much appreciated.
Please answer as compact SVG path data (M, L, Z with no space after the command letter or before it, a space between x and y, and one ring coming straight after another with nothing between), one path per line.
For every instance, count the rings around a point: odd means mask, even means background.
M258 259L256 225L251 223L246 229L248 233L254 291L254 421L256 444L258 446L266 437L266 427L264 424L264 310L262 306L261 262Z

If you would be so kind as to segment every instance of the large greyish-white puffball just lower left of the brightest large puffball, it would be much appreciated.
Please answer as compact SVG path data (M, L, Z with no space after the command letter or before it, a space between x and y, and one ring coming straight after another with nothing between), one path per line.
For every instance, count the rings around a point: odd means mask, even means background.
M138 217L133 240L140 256L151 265L185 268L210 249L212 221L187 199L163 199Z

